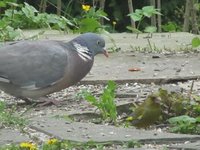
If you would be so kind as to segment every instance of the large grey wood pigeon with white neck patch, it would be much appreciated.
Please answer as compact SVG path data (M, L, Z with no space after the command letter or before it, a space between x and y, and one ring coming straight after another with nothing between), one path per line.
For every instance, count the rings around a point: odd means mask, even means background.
M94 56L108 53L105 41L85 33L62 41L21 41L0 48L0 89L24 100L37 99L79 82Z

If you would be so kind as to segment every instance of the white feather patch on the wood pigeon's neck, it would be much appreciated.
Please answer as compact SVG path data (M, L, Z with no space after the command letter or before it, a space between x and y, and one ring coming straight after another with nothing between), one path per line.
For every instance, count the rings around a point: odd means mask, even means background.
M76 42L73 42L73 45L76 49L76 51L78 52L78 55L84 60L84 61L88 61L88 60L92 60L92 57L90 56L90 52L89 49L85 46L82 46Z

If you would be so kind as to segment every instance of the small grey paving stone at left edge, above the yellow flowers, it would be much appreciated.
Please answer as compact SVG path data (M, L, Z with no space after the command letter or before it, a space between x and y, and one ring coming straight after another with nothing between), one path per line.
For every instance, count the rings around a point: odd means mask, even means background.
M30 141L30 139L27 137L27 135L23 135L18 130L8 128L0 129L0 146L25 141Z

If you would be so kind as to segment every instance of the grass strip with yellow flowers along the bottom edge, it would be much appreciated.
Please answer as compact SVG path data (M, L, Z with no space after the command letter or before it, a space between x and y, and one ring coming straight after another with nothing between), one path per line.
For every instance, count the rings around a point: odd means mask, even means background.
M8 146L0 147L0 150L104 150L109 149L113 146L113 142L97 143L94 141L89 142L72 142L72 141L61 141L58 139L49 139L42 145L37 145L31 142L22 142L20 144L11 144ZM140 147L141 144L138 141L128 141L125 143L118 143L123 148L135 148Z

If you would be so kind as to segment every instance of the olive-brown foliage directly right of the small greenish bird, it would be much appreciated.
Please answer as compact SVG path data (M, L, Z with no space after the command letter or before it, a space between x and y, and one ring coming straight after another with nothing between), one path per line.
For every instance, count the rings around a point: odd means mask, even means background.
M161 98L163 120L181 115L194 118L200 115L199 96L191 95L189 97L182 93L168 92L162 88L159 89L157 94Z

